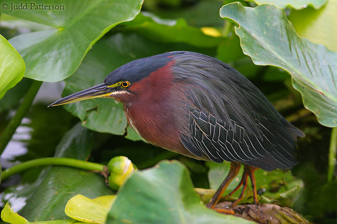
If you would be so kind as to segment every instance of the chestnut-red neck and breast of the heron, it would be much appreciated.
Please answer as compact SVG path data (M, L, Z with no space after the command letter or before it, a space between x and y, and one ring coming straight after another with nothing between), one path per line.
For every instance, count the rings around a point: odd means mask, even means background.
M145 140L181 152L186 150L180 142L180 133L187 130L183 119L185 96L179 84L173 82L170 63L132 84L132 97L126 96L122 103L129 124Z

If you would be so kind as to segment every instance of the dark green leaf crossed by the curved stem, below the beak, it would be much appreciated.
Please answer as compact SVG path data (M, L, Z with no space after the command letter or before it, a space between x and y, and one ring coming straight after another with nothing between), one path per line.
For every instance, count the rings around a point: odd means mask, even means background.
M78 123L64 135L55 156L85 160L90 154L92 140L92 132ZM43 169L42 172L47 173L20 210L20 215L28 221L66 219L65 204L76 194L90 198L112 194L104 178L96 173L61 166L48 170Z

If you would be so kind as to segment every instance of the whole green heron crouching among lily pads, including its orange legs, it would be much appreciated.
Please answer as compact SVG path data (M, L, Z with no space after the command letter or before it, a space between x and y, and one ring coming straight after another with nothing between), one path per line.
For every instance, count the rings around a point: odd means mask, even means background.
M108 74L102 84L48 107L99 97L122 103L128 123L156 146L199 160L231 162L207 204L211 209L238 174L240 163L244 173L230 195L243 187L232 206L243 198L248 176L258 203L256 169L290 169L298 163L296 139L304 133L245 76L210 56L174 51L138 59Z

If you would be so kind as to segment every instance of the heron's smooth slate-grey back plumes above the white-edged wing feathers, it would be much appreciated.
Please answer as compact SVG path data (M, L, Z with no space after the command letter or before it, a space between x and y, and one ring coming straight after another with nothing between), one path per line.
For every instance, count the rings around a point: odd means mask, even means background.
M183 56L188 54L188 56ZM264 94L237 70L215 58L185 52L175 56L175 79L185 82L185 94L190 103L213 115L219 123L234 128L234 121L248 132L258 133L260 116L281 122Z

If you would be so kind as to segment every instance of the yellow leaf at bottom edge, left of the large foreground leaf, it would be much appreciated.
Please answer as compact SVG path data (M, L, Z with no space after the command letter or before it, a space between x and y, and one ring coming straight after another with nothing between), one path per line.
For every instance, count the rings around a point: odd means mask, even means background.
M83 195L75 195L67 202L64 212L68 217L80 222L103 224L115 197L105 195L90 199Z

